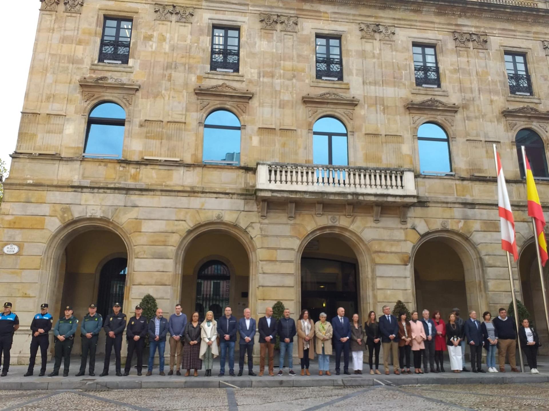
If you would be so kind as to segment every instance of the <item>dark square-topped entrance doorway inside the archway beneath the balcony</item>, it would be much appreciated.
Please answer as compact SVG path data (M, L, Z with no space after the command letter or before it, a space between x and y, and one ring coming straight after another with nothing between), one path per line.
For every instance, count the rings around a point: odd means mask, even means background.
M321 259L301 259L301 309L309 310L313 321L325 312L328 321L337 315L338 307L345 316L358 312L356 264Z

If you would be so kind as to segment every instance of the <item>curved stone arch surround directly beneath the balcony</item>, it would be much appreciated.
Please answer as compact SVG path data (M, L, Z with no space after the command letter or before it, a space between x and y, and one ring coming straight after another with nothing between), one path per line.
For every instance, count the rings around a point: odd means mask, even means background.
M300 311L301 307L301 256L307 244L314 238L323 234L336 235L345 242L355 253L358 262L359 288L358 296L360 301L360 318L367 315L371 307L376 307L376 277L373 257L366 241L354 230L339 225L324 225L307 233L299 243L295 256L295 306ZM316 320L315 320L316 321Z

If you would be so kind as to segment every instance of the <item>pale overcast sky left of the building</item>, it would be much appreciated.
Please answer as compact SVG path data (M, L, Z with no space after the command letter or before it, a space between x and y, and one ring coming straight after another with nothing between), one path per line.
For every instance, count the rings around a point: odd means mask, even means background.
M0 64L0 78L3 79L3 98L0 99L0 159L8 164L9 169L9 155L15 150L23 109L40 0L0 1L4 16L0 24L0 38L4 39ZM25 16L23 20L18 18L22 15Z

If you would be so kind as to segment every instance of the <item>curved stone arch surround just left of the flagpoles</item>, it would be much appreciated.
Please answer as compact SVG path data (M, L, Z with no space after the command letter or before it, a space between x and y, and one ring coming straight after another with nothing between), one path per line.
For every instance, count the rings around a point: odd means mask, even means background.
M418 249L423 244L433 241L434 239L437 239L452 248L463 264L463 275L468 305L467 309L474 309L478 311L484 309L484 307L488 307L488 298L486 296L486 284L484 278L484 263L480 252L470 238L453 230L435 230L427 232L421 236L412 247L410 252L410 278L412 279L413 301L416 302L416 306L417 279L414 272L416 254ZM421 309L421 307L418 307L418 309Z

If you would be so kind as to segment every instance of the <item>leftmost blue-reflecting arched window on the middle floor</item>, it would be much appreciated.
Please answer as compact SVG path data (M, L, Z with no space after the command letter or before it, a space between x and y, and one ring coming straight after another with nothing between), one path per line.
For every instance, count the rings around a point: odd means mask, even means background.
M88 117L84 157L121 158L126 112L113 102L95 106Z

